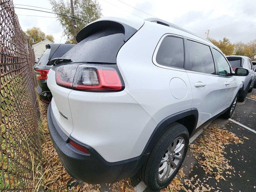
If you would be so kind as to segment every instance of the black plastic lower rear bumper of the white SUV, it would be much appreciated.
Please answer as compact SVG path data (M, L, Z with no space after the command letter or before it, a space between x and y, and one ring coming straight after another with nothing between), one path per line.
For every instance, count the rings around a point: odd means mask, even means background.
M123 160L107 162L90 146L82 144L72 137L66 136L58 126L53 114L51 104L47 111L48 129L54 148L70 176L87 183L112 183L123 178L133 176L138 172L148 155ZM74 142L86 147L90 155L80 152L68 143Z

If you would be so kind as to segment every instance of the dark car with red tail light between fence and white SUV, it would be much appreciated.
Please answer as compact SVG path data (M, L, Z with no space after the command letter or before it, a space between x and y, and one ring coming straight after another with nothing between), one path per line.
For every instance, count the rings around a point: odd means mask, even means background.
M44 103L50 103L52 94L46 84L47 74L52 67L49 61L54 58L62 57L68 50L74 47L74 44L47 44L46 51L38 59L34 65L34 71L38 78L38 86L36 88L39 98Z

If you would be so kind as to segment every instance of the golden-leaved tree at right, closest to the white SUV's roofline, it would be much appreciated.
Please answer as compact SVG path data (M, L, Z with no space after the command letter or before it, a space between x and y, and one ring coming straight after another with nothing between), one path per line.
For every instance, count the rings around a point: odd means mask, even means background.
M209 39L212 44L217 46L225 55L232 55L234 52L234 44L230 42L230 40L226 37L223 38L223 40L215 40L210 38Z

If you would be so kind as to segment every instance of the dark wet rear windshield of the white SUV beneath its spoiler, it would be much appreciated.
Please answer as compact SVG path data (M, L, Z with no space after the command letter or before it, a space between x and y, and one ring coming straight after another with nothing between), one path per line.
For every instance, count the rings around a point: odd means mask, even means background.
M123 44L124 30L107 28L86 37L63 57L72 62L116 63L117 53Z

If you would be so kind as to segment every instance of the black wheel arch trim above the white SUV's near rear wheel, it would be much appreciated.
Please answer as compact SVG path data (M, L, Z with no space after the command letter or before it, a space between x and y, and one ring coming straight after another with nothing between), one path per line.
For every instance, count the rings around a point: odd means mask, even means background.
M188 129L189 136L192 137L196 130L198 121L198 110L196 108L184 110L175 114L172 114L164 118L158 123L153 133L151 134L142 154L148 154L154 148L156 142L166 129L168 125L173 122L178 122Z

